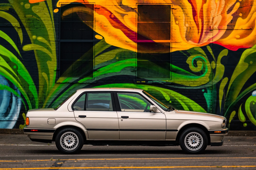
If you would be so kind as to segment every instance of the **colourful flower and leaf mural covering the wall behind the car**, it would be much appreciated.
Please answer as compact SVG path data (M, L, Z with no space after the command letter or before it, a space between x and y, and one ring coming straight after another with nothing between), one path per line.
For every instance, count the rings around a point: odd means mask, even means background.
M256 1L0 0L0 128L79 88L140 88L256 130Z

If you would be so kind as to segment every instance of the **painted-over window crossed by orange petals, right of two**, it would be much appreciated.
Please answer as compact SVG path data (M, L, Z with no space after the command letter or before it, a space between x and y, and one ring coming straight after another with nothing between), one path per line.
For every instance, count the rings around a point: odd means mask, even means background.
M170 79L171 5L138 5L137 76Z

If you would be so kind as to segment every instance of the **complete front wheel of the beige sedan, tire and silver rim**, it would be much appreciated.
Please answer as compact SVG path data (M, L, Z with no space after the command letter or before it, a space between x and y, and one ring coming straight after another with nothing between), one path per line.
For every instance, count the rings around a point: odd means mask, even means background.
M206 149L208 138L202 129L188 128L181 133L179 142L187 154L200 154Z

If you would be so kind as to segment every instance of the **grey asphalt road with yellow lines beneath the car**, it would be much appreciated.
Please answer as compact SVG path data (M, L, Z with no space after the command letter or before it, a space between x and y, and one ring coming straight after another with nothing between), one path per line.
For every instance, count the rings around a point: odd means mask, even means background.
M26 135L0 134L3 169L256 169L256 137L225 137L221 147L186 155L179 146L87 146L63 155L54 143Z

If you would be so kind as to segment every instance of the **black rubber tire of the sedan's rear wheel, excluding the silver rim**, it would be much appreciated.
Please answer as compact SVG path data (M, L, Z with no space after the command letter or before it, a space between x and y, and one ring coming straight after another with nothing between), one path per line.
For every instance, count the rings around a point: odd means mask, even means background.
M65 150L61 147L60 138L61 138L61 135L66 132L73 132L78 137L78 140L79 140L78 146L74 150ZM73 129L73 128L66 128L66 129L62 129L61 131L59 131L58 134L56 135L55 145L56 145L57 149L59 151L61 151L63 154L76 154L77 152L79 152L82 149L82 147L84 145L84 138L78 130Z

